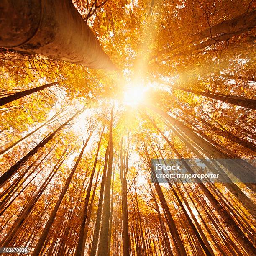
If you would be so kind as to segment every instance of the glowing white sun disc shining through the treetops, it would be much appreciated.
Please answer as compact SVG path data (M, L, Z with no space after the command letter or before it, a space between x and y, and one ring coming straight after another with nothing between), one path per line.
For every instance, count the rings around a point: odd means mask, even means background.
M123 103L125 105L137 106L145 101L146 87L138 84L129 85L123 93Z

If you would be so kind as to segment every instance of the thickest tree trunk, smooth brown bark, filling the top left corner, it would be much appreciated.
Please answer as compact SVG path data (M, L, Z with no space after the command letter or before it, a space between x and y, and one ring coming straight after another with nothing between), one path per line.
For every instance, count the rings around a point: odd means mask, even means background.
M115 69L71 0L0 2L0 47Z

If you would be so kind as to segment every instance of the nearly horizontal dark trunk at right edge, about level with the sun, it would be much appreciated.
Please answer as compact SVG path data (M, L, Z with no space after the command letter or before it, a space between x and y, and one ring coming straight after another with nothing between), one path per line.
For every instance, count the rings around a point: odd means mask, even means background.
M188 89L180 86L174 86L174 89L179 89L185 92L191 92L197 95L202 95L211 99L215 100L220 100L225 103L241 106L244 108L250 108L253 110L256 110L256 100L251 100L243 97L238 97L236 95L226 95L226 94L221 94L218 92L202 92L202 91L197 91L194 89Z

